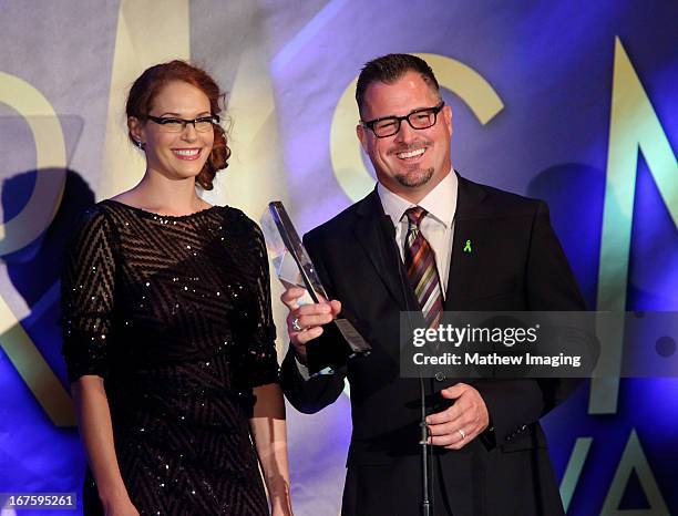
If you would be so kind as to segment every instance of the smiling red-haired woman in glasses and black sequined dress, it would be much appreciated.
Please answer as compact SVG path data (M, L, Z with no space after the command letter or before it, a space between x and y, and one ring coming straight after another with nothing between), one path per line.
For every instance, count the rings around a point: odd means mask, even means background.
M136 80L127 125L146 172L86 214L66 259L85 514L269 514L259 463L270 510L291 514L261 233L196 193L230 154L222 99L182 61Z

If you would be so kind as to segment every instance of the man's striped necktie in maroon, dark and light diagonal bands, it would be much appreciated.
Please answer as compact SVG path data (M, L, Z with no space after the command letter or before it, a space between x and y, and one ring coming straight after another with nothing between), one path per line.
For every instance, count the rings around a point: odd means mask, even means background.
M410 285L429 328L436 327L442 316L442 290L435 268L435 252L420 231L420 225L428 211L420 206L409 208L408 236L405 238L404 258Z

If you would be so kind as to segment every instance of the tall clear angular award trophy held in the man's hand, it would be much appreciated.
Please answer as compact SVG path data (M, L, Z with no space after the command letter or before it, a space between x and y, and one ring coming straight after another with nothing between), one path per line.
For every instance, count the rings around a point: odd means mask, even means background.
M285 288L306 289L297 302L308 305L329 300L282 203L275 200L268 204L268 209L261 216L261 230L276 275ZM332 374L335 369L345 365L349 359L364 355L371 349L347 319L335 319L323 330L338 331L337 337L340 338L328 339L322 343L312 340L308 342L306 350L311 375Z

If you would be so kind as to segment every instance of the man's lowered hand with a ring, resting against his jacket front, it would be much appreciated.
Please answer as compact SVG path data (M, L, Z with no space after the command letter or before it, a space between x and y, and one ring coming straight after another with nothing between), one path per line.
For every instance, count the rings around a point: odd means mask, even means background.
M465 383L443 389L440 393L456 401L449 409L427 417L429 444L461 450L490 424L487 407L480 393Z

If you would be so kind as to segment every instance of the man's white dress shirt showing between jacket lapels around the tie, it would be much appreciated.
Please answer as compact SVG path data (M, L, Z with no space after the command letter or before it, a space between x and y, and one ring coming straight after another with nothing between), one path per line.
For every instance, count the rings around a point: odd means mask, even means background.
M450 172L418 205L403 199L398 194L386 188L381 183L377 193L381 199L383 211L391 217L396 226L396 241L400 257L404 261L404 244L408 236L408 208L421 206L428 215L421 221L420 230L435 254L435 267L441 282L443 298L450 277L450 259L452 258L452 237L454 235L454 213L456 211L456 189L459 179L454 169Z

